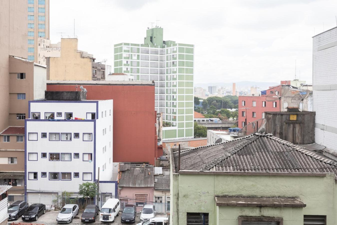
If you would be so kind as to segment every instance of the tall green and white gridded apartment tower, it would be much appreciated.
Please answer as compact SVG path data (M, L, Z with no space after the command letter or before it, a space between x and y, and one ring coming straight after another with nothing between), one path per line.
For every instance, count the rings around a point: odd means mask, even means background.
M163 40L163 28L146 30L144 44L114 45L114 73L155 81L155 110L163 113L163 139L193 137L194 45Z

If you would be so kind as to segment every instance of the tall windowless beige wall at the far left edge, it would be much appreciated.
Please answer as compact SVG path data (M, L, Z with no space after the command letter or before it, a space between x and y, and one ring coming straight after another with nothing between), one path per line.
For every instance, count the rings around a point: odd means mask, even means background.
M27 1L0 0L0 130L9 125L9 55L27 58Z

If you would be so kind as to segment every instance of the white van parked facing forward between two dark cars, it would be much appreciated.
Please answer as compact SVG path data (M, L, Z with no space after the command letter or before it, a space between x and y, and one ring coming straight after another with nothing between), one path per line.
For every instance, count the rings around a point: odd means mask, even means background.
M120 209L121 205L119 199L109 198L99 212L99 221L114 222L115 217L119 215Z

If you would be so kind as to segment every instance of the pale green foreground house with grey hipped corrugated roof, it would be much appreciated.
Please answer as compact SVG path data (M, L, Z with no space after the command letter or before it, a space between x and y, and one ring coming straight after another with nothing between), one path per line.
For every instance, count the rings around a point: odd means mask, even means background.
M171 224L335 225L336 161L271 134L171 152Z

